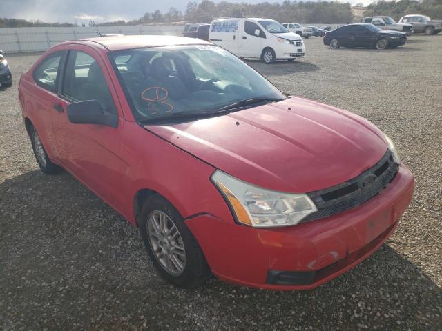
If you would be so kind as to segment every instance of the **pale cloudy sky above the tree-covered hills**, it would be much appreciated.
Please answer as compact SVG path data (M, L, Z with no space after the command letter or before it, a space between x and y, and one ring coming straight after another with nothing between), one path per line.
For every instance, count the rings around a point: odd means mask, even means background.
M200 0L197 0L200 2ZM221 0L214 0L219 2ZM228 0L229 2L260 3L265 0ZM267 0L281 2L277 0ZM340 0L343 2L372 3L374 0ZM156 9L163 13L172 6L184 11L188 0L0 0L0 17L59 23L96 23L124 19L138 19L145 12Z

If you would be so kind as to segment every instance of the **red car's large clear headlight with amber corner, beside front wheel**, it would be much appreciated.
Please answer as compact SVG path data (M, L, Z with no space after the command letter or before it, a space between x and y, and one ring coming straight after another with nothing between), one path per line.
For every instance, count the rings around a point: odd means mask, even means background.
M296 225L318 209L306 194L287 194L259 188L220 170L211 180L239 223L256 228Z

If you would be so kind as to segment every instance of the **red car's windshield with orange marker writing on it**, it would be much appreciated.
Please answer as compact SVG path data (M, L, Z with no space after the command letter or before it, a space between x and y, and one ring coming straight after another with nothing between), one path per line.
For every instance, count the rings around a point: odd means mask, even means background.
M286 98L258 72L214 45L120 50L109 58L140 123L213 117Z

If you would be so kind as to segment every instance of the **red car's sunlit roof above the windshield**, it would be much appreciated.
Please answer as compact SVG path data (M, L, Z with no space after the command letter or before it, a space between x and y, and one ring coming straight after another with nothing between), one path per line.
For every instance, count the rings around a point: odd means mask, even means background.
M195 45L209 44L208 41L195 38L163 36L163 35L136 35L136 36L111 36L80 39L77 41L65 41L62 44L80 43L91 46L102 46L107 50L127 50L130 48L144 48L155 46Z

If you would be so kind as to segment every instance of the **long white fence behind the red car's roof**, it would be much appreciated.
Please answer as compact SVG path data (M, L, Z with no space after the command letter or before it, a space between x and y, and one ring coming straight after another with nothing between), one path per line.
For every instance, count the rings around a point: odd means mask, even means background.
M163 34L181 36L182 25L161 26L100 26L104 33L121 34ZM0 50L4 52L39 52L62 41L98 37L96 28L91 27L36 27L0 28Z

